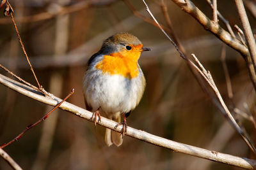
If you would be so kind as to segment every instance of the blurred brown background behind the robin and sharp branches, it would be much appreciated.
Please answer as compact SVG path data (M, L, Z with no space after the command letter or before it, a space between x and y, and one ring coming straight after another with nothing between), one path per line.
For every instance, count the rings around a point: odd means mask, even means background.
M84 108L82 80L87 60L99 50L104 39L115 32L131 32L152 51L143 53L139 60L147 88L141 103L127 118L128 125L180 143L255 159L241 136L200 88L170 41L157 27L138 17L139 12L146 19L150 18L142 1L9 2L15 10L15 20L38 81L48 92L63 98L74 88L75 93L68 102ZM189 55L195 53L211 71L227 106L236 106L240 111L255 115L255 91L243 57L205 31L172 1L148 0L150 10L165 27L168 25L162 2L166 3L177 38ZM207 17L212 17L207 1L193 0L193 3ZM237 35L234 25L241 27L241 24L234 1L218 1L218 10ZM246 10L255 31L255 17L248 8ZM0 17L0 24L0 63L36 85L10 18ZM220 25L226 29L223 22ZM231 100L221 65L223 46L234 92ZM3 70L0 73L10 76ZM0 144L15 138L51 108L0 85ZM253 123L237 118L256 141ZM56 110L4 150L22 168L33 170L239 169L174 153L127 136L122 146L108 147L104 143L104 132L99 125L95 129L92 122ZM11 167L0 159L0 169Z

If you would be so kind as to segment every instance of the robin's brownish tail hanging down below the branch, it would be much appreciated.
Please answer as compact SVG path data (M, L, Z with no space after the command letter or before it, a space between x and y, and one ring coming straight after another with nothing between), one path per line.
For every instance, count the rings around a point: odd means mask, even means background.
M115 118L111 118L111 119L114 120L115 122L120 123L121 115L118 114L118 117L116 119ZM108 146L111 146L113 144L115 144L116 146L120 146L123 143L123 138L119 132L111 131L110 129L106 128L105 142Z

